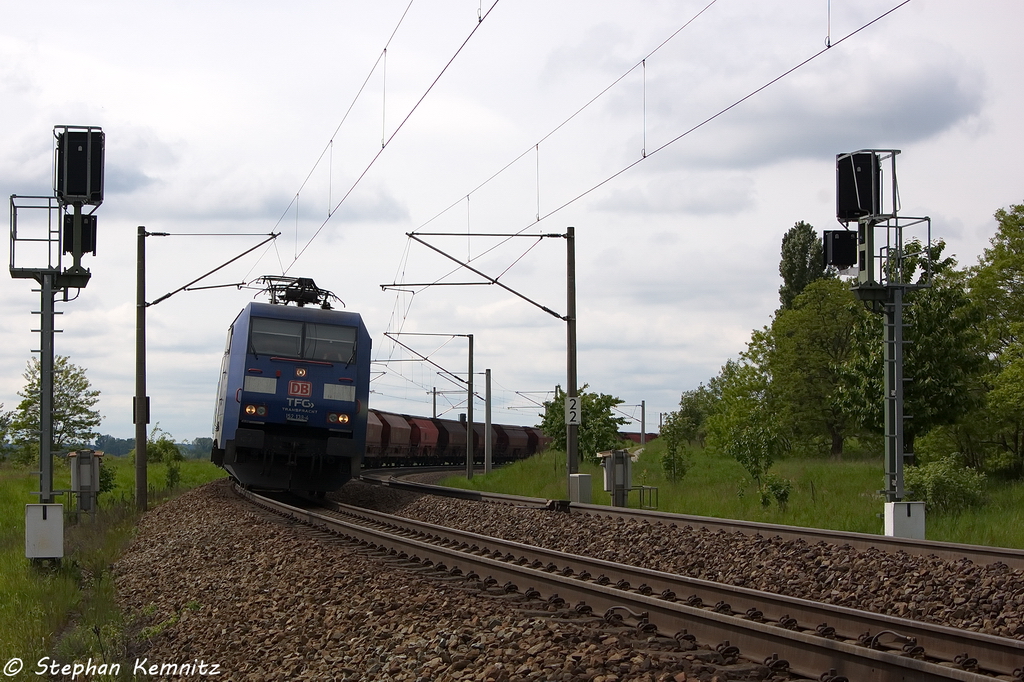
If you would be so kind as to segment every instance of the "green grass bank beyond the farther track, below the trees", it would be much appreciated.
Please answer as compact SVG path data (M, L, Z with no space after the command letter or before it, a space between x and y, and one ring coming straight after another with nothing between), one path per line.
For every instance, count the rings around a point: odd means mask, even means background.
M772 471L793 481L784 509L762 507L748 473L734 460L712 457L699 450L687 453L690 469L682 480L671 482L662 469L665 443L654 440L633 464L633 484L658 488L660 511L781 523L857 532L883 532L882 457L842 462L786 459ZM603 469L582 464L580 473L591 474L593 503L610 504L602 487ZM445 485L545 499L566 499L565 454L551 451L467 481L453 476ZM989 481L988 502L979 509L956 515L930 512L929 540L1024 549L1024 483ZM638 507L636 493L630 506Z

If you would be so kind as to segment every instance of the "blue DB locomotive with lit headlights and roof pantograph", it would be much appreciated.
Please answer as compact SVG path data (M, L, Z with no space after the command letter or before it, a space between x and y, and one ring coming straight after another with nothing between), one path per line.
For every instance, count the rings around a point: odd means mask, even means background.
M212 459L248 487L337 489L366 452L370 335L311 280L263 281L227 331Z

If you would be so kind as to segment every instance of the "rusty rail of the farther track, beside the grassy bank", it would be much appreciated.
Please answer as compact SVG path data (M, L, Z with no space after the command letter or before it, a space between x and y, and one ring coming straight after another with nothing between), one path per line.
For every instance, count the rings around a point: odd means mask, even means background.
M440 468L430 469L430 471L439 470ZM399 478L401 475L422 473L424 471L426 471L426 469L381 469L364 472L360 478L369 483L386 485L395 489L423 493L427 495L441 495L463 500L498 502L503 504L537 507L549 504L549 501L538 498L522 498L500 493L466 491L462 488L408 481ZM906 552L907 554L914 556L935 555L936 557L947 561L958 561L966 558L979 565L1004 563L1010 568L1024 569L1024 550L1005 547L986 547L984 545L965 545L958 543L932 542L927 540L911 540L908 538L891 538L888 536L873 536L867 532L827 530L796 525L781 525L777 523L761 523L759 521L740 521L715 518L711 516L673 514L648 509L629 509L624 507L607 507L604 505L589 505L577 502L565 502L563 504L567 505L570 511L581 514L610 516L613 518L631 518L645 520L649 523L660 522L665 524L675 524L678 526L690 525L694 527L705 527L713 531L723 530L725 532L742 532L746 536L761 535L766 538L779 537L782 540L799 539L804 540L810 545L817 542L825 542L840 546L849 545L850 547L858 550L876 548L886 552Z

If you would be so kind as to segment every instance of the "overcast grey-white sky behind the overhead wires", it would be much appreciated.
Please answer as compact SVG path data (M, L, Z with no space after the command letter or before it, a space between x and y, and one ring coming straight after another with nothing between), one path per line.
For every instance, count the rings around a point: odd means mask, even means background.
M336 292L371 331L387 410L427 415L457 387L385 332L473 334L495 421L522 424L565 384L565 324L494 286L411 286L480 280L407 232L460 233L423 239L564 314L564 240L469 235L572 225L581 383L637 418L645 400L656 426L770 321L785 230L838 226L838 153L901 150L903 214L962 263L1024 201L1020 3L913 0L842 40L899 0L493 2L4 5L0 191L51 194L55 125L106 133L93 276L56 339L101 391L101 432L133 434L138 225L173 235L146 241L150 301L281 232L203 284ZM18 218L19 236L42 225ZM40 301L0 283L9 410ZM176 438L210 434L225 331L255 296L148 308L154 421ZM464 338L398 338L465 371Z

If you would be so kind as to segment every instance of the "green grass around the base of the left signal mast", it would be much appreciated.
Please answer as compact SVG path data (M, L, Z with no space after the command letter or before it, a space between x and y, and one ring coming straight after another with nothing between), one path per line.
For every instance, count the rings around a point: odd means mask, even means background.
M93 518L66 511L65 559L35 566L25 557L25 505L38 502L38 466L0 464L0 660L17 656L26 670L44 655L62 662L120 663L124 624L117 607L111 565L134 532L135 469L127 458L106 457L117 487L100 496ZM167 467L147 468L150 505L166 499ZM181 488L222 477L210 462L181 462ZM54 466L53 486L71 486L67 465ZM65 496L57 498L68 507ZM35 674L34 672L32 673Z

